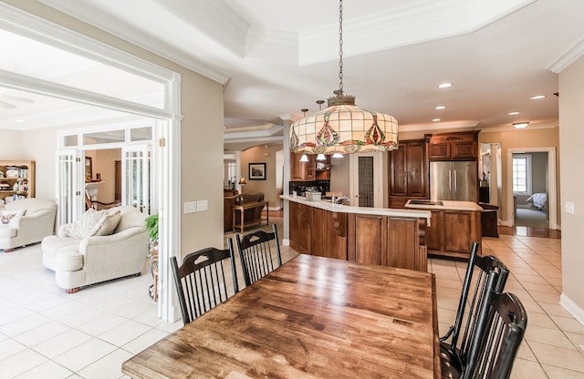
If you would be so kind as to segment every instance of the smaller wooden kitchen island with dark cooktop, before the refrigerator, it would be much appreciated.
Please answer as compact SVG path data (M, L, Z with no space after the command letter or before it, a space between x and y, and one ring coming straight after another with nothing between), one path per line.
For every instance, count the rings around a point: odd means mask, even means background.
M481 254L481 211L472 201L409 200L410 210L430 210L432 225L426 230L428 254L468 259L474 241Z

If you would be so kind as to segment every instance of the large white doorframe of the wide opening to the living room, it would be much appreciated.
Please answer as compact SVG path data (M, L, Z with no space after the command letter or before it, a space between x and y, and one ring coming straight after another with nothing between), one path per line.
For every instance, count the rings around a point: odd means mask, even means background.
M20 36L35 39L49 46L57 46L73 54L85 56L103 64L121 68L125 71L159 81L164 84L164 106L154 108L133 103L116 97L108 97L75 87L59 85L34 77L19 75L0 70L0 83L45 96L77 101L100 108L120 110L125 113L156 119L152 153L159 170L155 180L159 212L159 294L158 316L164 321L174 322L180 317L178 302L173 296L172 272L165 261L181 251L181 75L168 68L158 66L148 60L106 45L90 36L57 25L46 19L31 15L12 5L0 2L0 28ZM57 148L58 149L58 148ZM159 154L155 154L155 151ZM166 183L178 183L168 186Z

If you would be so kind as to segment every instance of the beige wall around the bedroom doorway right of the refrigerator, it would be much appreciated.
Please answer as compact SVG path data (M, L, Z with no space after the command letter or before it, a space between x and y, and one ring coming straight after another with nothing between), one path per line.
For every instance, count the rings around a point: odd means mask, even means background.
M509 149L533 149L533 148L556 148L556 157L559 151L559 128L525 128L509 129L499 131L481 131L478 136L481 143L501 143L501 200L499 201L501 210L501 220L508 222L513 218L513 209L507 207L507 192L512 183L507 179L507 152ZM556 159L556 182L559 186L559 161ZM559 194L559 189L557 192ZM558 196L558 210L559 210ZM558 224L559 222L558 213Z

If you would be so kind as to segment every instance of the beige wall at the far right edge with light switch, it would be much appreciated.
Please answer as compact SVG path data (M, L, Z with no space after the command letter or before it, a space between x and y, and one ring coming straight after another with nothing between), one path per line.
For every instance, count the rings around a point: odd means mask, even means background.
M584 230L584 202L580 201L584 195L584 56L559 74L559 93L561 198L562 204L571 201L575 206L574 214L561 210L562 298L567 296L579 307L580 314L575 316L584 323L584 254L580 240Z

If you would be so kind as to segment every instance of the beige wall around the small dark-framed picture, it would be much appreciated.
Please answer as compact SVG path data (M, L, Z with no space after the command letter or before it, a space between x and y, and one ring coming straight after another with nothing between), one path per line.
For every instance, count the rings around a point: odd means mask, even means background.
M276 185L276 151L281 150L282 145L261 145L255 148L246 149L239 155L241 162L241 176L247 180L244 191L248 193L263 192L269 207L276 209L280 207L280 195ZM249 163L266 163L266 180L249 179Z

